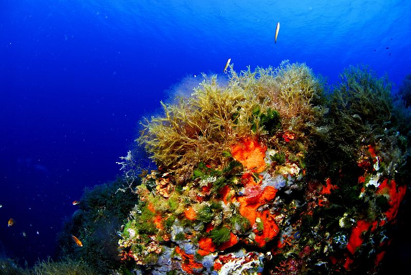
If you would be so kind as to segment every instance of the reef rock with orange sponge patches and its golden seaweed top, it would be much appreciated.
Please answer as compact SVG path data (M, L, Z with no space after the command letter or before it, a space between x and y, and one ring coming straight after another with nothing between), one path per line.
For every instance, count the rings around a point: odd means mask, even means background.
M368 82L342 78L329 97L304 64L282 63L163 104L139 139L158 169L142 175L122 261L140 274L376 272L409 147L384 116L389 87L351 70ZM384 112L350 103L370 90Z

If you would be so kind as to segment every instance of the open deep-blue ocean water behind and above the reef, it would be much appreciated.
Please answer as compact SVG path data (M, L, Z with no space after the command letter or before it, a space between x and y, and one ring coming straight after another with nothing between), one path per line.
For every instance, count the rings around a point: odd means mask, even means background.
M406 0L0 1L0 254L52 255L71 202L115 179L182 78L289 60L332 84L368 64L396 90L410 27Z

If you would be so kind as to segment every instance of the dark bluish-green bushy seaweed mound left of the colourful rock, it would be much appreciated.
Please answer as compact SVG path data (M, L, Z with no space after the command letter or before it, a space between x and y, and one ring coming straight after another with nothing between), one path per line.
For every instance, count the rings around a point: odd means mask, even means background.
M86 188L80 209L74 212L58 235L59 258L68 257L75 262L86 263L100 274L118 268L117 232L138 203L138 195L132 188L139 183L140 179L136 179L133 185L129 185L126 179L118 178L111 183ZM72 235L82 240L83 247L73 243ZM52 266L55 265L45 262L39 268Z

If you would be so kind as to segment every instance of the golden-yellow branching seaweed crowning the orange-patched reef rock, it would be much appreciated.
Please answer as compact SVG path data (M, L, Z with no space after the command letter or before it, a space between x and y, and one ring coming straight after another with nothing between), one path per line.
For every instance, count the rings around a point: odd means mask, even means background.
M324 113L315 107L324 98L321 81L305 64L286 61L275 69L248 68L240 73L231 68L224 86L217 83L217 75L203 78L189 99L161 103L164 116L146 120L137 139L159 167L179 174L180 182L199 162L221 168L227 160L222 152L241 137L263 140L282 130L309 134L313 121ZM277 123L267 129L267 117L275 119L273 111L279 114Z

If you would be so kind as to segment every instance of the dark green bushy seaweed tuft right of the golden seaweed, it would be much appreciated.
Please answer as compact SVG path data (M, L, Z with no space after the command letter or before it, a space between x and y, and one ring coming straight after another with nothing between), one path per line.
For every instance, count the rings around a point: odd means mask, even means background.
M373 136L383 134L381 130L390 124L390 92L387 77L378 78L366 66L350 66L340 75L340 84L334 87L331 98L331 138L349 158L362 141L373 142Z

